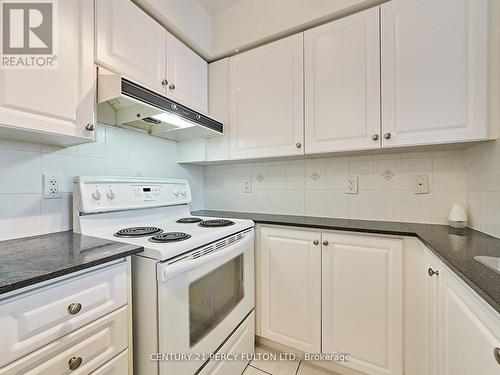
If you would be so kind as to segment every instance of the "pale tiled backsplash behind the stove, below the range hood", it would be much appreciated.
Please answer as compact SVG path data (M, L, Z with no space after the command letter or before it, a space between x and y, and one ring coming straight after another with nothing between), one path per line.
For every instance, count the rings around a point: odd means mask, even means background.
M42 198L42 175L63 176L63 199ZM177 144L100 125L97 142L68 148L0 139L0 240L72 228L76 175L187 178L203 208L203 168L177 164Z

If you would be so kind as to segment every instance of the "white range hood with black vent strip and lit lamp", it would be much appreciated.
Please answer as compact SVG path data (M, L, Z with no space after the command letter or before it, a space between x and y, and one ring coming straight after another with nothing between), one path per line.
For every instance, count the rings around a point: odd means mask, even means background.
M106 69L98 69L97 121L182 141L222 135L223 124Z

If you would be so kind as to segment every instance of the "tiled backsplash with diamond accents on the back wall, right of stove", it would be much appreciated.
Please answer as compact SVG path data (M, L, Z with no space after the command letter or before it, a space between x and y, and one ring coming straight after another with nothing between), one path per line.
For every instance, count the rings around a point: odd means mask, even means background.
M394 173L389 181L381 174ZM315 182L311 175L316 172ZM427 174L430 194L412 192L412 175ZM344 192L359 176L359 194ZM259 181L258 176L263 177ZM244 177L252 193L242 192ZM237 163L205 169L205 207L231 211L366 220L447 223L452 203L466 203L465 152L405 152L326 159Z

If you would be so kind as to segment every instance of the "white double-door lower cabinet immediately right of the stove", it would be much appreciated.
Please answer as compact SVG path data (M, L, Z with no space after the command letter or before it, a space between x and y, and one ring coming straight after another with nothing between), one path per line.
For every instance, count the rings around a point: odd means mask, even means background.
M403 373L401 239L262 226L258 254L260 336Z

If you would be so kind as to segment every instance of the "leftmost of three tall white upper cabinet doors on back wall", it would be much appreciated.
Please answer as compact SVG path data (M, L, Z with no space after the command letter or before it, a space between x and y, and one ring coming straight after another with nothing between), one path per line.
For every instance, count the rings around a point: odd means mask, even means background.
M303 36L229 59L230 157L303 154Z

